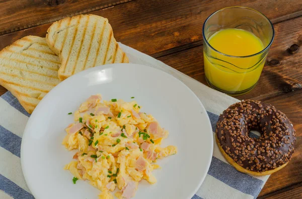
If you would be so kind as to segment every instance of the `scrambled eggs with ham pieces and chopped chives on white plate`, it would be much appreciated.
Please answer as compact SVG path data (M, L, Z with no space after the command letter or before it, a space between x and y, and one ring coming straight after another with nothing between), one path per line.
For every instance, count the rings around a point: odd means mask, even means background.
M116 187L118 198L130 198L140 180L156 183L152 171L160 166L153 163L175 154L177 148L160 146L169 132L152 115L139 112L137 102L101 100L101 95L88 98L75 111L75 123L66 128L62 144L79 152L65 169L75 180L88 179L99 188L101 199L113 198L110 191Z

